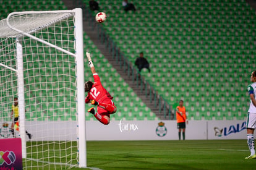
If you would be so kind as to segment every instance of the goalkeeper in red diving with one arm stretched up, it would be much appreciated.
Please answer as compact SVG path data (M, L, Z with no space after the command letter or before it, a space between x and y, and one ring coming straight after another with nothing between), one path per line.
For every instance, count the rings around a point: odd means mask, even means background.
M88 109L88 112L92 113L102 124L107 125L110 121L110 114L116 113L116 106L112 101L113 96L101 85L100 77L95 71L90 53L86 53L86 56L92 70L94 83L91 81L85 82L85 92L88 92L85 103L97 106L98 113L95 112L94 108Z

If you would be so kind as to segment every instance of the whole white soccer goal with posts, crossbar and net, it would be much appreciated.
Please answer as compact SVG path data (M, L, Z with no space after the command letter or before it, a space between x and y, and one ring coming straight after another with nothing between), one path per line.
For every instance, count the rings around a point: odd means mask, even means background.
M22 138L24 169L86 167L82 38L82 9L0 21L0 138Z

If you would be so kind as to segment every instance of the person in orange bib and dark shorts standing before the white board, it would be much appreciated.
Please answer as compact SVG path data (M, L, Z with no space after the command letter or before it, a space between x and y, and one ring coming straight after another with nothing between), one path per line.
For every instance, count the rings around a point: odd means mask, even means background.
M183 140L185 140L185 130L186 130L186 108L183 106L183 100L179 101L179 106L176 108L176 118L177 118L177 129L179 129L179 140L181 140L181 130ZM187 124L189 121L187 121Z

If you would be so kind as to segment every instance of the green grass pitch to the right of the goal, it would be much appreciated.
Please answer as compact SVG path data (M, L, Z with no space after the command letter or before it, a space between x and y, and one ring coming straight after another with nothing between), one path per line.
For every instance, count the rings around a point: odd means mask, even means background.
M246 140L87 142L87 166L99 169L256 169L249 154Z

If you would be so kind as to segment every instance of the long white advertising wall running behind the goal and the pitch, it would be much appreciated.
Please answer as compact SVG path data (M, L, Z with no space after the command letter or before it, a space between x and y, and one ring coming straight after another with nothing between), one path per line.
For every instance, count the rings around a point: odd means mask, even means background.
M33 139L76 140L76 122L32 121L26 122ZM4 130L0 130L2 138ZM53 130L54 129L54 130ZM66 131L66 132L65 132ZM59 135L62 134L62 135ZM72 134L72 135L70 135ZM12 137L11 135L9 137ZM176 121L111 121L103 125L98 121L86 122L87 140L178 140ZM182 135L181 135L182 138ZM186 140L244 139L245 121L189 121ZM33 140L32 139L32 140Z

